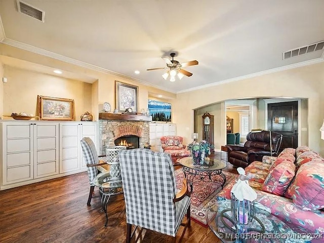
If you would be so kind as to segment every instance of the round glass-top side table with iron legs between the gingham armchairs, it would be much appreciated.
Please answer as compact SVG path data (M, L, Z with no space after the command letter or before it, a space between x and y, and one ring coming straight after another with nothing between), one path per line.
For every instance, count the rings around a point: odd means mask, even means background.
M123 182L121 181L121 177L111 177L110 173L100 173L92 182L95 186L99 187L102 209L106 214L106 227L108 224L107 204L109 198L112 195L124 193Z

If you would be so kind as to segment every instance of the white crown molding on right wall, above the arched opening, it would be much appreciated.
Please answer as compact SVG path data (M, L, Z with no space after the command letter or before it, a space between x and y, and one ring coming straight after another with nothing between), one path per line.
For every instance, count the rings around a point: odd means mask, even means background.
M323 52L323 54L324 54L324 52ZM195 91L195 90L206 89L206 88L210 88L210 87L214 87L214 86L218 86L218 85L223 85L223 84L236 82L236 81L243 80L243 79L262 76L262 75L265 75L265 74L274 73L274 72L280 72L280 71L284 71L284 70L289 70L289 69L293 69L293 68L296 68L296 67L308 66L308 65L312 65L312 64L316 64L316 63L320 63L320 62L324 62L323 55L320 58L312 59L312 60L309 60L309 61L299 62L299 63L290 64L290 65L282 66L282 67L276 67L276 68L268 69L268 70L261 71L261 72L255 72L255 73L251 73L251 74L247 74L247 75L243 75L243 76L239 76L239 77L233 77L233 78L225 79L225 80L215 82L215 83L212 83L212 84L208 84L208 85L202 85L202 86L197 86L197 87L194 87L194 88L191 88L191 89L181 90L181 91L178 91L177 94L186 93L186 92Z

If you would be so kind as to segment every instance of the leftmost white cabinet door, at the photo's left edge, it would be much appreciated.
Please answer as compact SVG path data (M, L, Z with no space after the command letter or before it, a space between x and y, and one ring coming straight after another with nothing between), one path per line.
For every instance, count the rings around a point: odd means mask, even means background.
M2 184L32 180L33 124L2 123Z

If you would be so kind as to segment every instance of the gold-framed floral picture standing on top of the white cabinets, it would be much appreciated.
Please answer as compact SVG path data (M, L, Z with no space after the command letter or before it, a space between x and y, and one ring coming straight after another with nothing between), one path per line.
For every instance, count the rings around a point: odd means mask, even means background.
M37 96L39 119L41 120L74 120L74 100Z

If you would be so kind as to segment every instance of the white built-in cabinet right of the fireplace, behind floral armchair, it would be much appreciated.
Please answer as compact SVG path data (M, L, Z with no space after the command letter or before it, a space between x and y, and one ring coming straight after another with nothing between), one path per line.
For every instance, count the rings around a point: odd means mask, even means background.
M153 151L163 152L160 140L162 136L176 136L176 125L159 123L150 124L150 144Z

